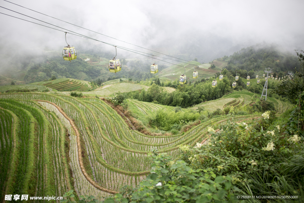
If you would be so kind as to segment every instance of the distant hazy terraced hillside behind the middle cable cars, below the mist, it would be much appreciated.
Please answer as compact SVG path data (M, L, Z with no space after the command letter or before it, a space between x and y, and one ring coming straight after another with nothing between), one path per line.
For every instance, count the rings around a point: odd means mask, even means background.
M162 70L158 76L160 79L169 79L169 80L174 81L174 80L178 79L181 74L184 74L184 72L185 72L184 66L185 66L186 67L186 76L188 76L188 79L195 80L195 79L192 79L192 72L194 71L193 64L196 64L195 70L199 72L199 77L197 79L212 77L212 76L215 76L214 74L216 72L218 72L217 69L209 69L209 67L211 66L210 64L200 64L197 61L191 61L191 64L190 63L181 63L178 65L172 65L172 66Z

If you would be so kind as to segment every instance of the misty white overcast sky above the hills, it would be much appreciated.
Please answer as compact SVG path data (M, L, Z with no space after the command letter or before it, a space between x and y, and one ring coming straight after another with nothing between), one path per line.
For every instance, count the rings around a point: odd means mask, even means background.
M249 46L263 41L269 44L276 43L291 52L294 49L304 49L303 0L10 0L10 2L132 44L165 52L165 54L173 54L176 49L192 43L199 44L196 48L201 50L200 53L215 53L214 47L216 47L216 50L219 50L217 54L226 54L229 51L225 50L234 46ZM0 6L101 41L152 53L3 0L0 0ZM4 8L0 8L0 12L50 26ZM59 51L66 46L63 32L3 14L0 14L0 27L0 46L2 47L9 44L19 46L20 50L24 47L28 49L42 47ZM113 50L113 47L109 45L88 42L82 37L69 34L67 34L67 42L75 47L78 44L95 44L104 50Z

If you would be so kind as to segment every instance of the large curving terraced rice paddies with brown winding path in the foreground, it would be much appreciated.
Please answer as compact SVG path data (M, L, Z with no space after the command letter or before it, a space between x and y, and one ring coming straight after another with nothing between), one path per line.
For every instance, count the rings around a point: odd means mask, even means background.
M132 102L151 112L164 107ZM88 194L99 200L146 177L151 147L177 157L179 145L194 146L208 136L208 126L226 122L217 117L183 134L153 137L130 129L102 100L48 93L0 94L0 118L6 151L1 160L7 166L0 186L5 194L62 196L73 189L78 197Z

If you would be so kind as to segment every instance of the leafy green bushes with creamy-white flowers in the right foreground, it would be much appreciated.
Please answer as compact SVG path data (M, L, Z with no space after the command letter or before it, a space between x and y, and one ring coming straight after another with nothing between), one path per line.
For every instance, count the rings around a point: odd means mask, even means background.
M257 122L268 119L265 112ZM231 110L230 121L214 126L221 130L209 127L207 144L180 146L183 156L178 159L153 149L146 180L136 188L123 187L105 203L231 202L240 194L303 195L303 139L282 134L279 125L260 131L257 122L236 123Z

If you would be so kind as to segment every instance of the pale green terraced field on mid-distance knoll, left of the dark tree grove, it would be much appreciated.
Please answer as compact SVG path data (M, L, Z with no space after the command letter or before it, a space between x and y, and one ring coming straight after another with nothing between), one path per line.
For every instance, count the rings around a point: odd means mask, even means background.
M90 92L82 92L83 94L92 94L92 95L99 95L99 96L109 96L114 93L124 93L124 92L131 92L139 89L146 89L146 86L139 85L139 84L133 84L133 83L127 83L127 82L121 82L113 85L109 85L105 88L90 91Z

